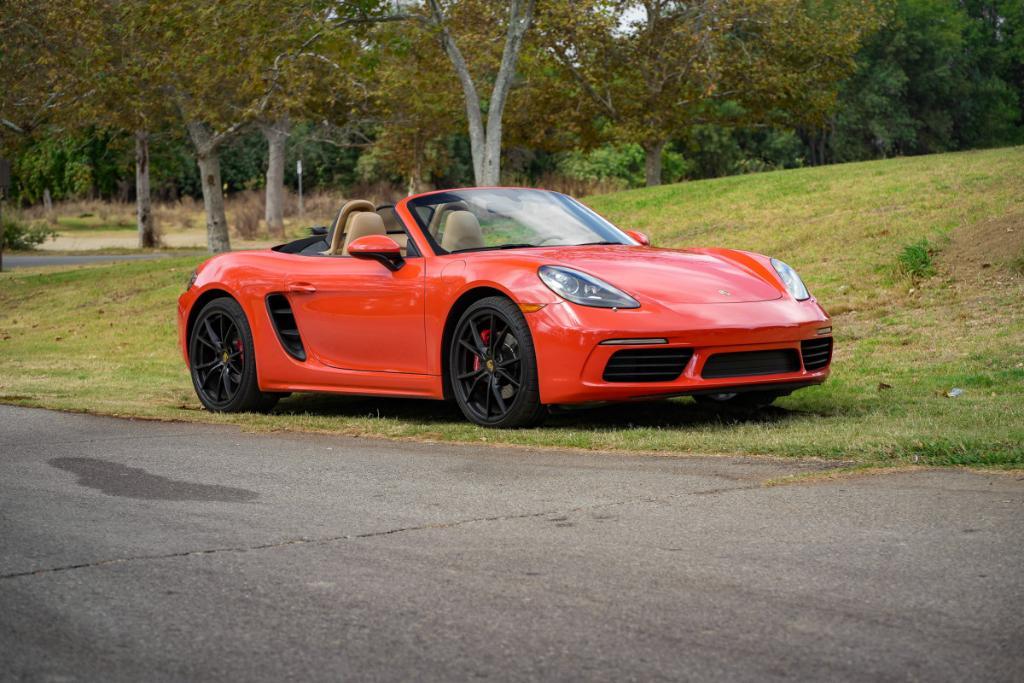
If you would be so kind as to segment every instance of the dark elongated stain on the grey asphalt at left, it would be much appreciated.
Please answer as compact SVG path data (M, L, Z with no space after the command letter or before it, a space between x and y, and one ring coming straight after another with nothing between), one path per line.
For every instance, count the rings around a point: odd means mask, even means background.
M138 467L128 467L97 458L54 458L53 467L78 475L78 483L108 496L139 498L148 501L213 501L249 503L259 496L247 488L193 483L150 474Z

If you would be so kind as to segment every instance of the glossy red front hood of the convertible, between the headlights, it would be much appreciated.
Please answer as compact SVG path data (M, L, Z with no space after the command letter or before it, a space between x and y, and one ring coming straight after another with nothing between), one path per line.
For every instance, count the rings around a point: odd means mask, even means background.
M782 296L753 254L730 250L678 250L599 246L530 249L550 265L596 275L641 300L665 305L771 301Z

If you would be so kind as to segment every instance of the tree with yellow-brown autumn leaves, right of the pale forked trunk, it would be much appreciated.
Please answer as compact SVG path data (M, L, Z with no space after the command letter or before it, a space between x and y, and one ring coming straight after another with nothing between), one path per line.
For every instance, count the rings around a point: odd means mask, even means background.
M643 146L646 181L655 185L668 140L722 112L752 123L827 111L874 10L859 0L826 5L566 0L547 13L542 33L608 135ZM721 101L740 106L714 105Z

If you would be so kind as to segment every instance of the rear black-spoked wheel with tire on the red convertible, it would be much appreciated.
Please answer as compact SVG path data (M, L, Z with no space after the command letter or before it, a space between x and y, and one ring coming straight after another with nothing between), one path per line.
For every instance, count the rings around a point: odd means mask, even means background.
M259 390L252 331L234 299L214 299L200 310L188 366L196 395L211 413L266 413L280 397Z

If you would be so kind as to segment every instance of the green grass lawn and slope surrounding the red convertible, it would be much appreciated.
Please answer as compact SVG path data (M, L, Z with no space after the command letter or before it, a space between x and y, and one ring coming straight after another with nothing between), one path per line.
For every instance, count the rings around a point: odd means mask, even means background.
M296 395L270 416L199 408L174 329L196 257L0 275L0 401L395 438L659 453L771 454L851 465L1024 466L1024 279L1015 253L954 279L953 230L1024 216L1024 147L765 173L593 197L658 246L728 246L798 268L835 315L828 382L749 419L681 398L486 430L433 401ZM892 276L904 246L936 274ZM1001 258L1006 260L1000 260ZM885 386L882 386L885 385ZM891 388L886 388L891 387ZM946 397L952 387L965 394Z

